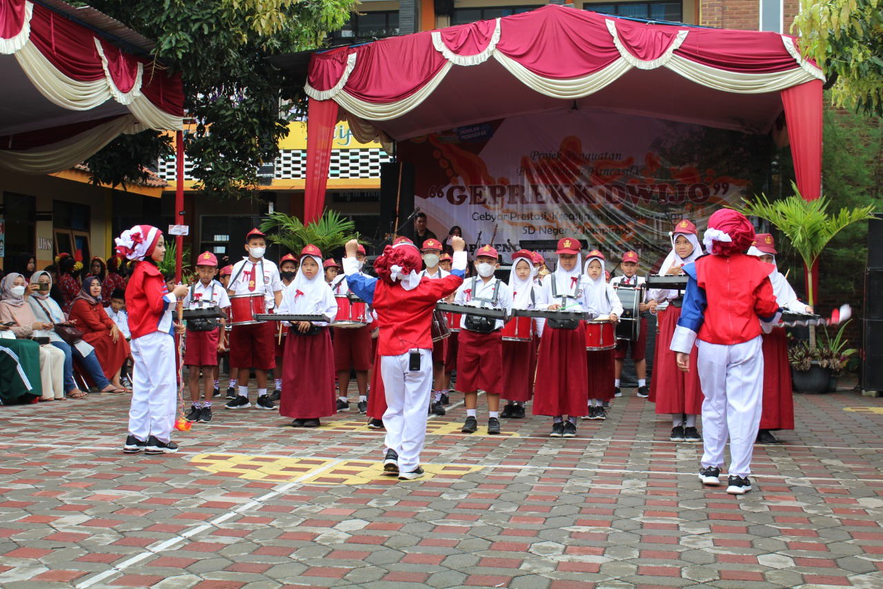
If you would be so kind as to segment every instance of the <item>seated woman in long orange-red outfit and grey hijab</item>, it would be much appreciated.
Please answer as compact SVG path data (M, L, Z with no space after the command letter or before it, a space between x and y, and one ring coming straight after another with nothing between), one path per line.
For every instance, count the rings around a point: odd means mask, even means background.
M77 322L83 340L95 348L104 376L113 386L125 388L119 377L123 363L129 357L129 343L102 307L102 283L97 278L90 276L83 280L68 318ZM126 392L131 391L126 389Z

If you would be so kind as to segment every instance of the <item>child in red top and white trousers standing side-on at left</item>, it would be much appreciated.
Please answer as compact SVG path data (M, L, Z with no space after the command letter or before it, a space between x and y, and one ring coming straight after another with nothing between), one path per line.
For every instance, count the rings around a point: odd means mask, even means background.
M132 406L129 435L123 451L134 454L177 452L171 440L177 404L175 336L177 325L172 310L187 287L177 285L169 292L156 263L165 255L162 232L154 226L136 225L117 240L117 251L137 260L125 288L132 332Z

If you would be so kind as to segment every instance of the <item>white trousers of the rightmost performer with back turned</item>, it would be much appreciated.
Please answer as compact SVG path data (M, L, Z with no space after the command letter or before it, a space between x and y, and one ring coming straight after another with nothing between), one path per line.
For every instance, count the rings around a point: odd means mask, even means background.
M763 409L764 355L760 336L734 346L697 340L702 402L702 466L723 466L729 436L728 474L751 474L751 453Z

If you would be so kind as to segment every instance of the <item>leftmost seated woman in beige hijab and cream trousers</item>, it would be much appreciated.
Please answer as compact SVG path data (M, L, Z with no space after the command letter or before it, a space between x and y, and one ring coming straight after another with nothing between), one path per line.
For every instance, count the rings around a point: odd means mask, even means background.
M52 329L52 324L37 321L30 305L25 304L24 276L12 272L0 284L0 323L15 324L11 328L16 338L30 340L34 331ZM64 352L49 343L40 346L40 380L41 401L64 399Z

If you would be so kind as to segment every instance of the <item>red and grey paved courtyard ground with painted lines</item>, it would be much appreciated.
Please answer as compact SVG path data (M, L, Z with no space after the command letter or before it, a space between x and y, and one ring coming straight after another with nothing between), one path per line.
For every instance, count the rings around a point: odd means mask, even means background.
M455 405L411 482L354 410L304 431L219 403L149 456L119 450L127 403L0 409L0 586L883 587L883 399L854 391L797 394L738 498L631 390L572 440L464 435Z

